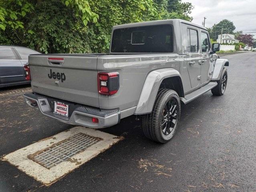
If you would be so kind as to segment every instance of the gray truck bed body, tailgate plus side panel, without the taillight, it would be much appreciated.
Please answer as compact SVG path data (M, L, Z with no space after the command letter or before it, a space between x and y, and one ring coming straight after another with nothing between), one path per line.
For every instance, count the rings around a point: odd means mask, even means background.
M63 58L54 64L49 58ZM183 60L183 59L182 59ZM183 60L184 61L184 60ZM186 62L184 61L184 66ZM110 110L118 108L121 118L134 113L147 74L157 68L183 67L179 55L169 54L33 54L29 56L32 90L53 98ZM64 73L65 80L49 78ZM98 73L118 72L119 90L99 94ZM187 70L184 70L187 73Z

